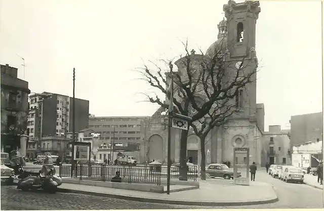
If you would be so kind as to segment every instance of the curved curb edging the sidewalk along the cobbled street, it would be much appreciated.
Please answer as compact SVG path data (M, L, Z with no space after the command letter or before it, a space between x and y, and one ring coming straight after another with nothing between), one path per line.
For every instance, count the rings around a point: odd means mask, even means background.
M14 182L14 184L17 184L17 182ZM129 196L129 195L118 195L118 194L100 193L100 192L92 192L92 191L84 191L84 190L72 190L72 189L66 189L66 188L58 188L57 192L109 197L109 198L139 201L139 202L145 202L145 203L169 203L169 204L178 204L178 205L197 205L197 206L256 205L256 204L274 203L279 200L278 197L276 196L273 199L258 200L258 201L226 201L226 202L225 201L220 201L220 202L217 202L217 201L181 201L181 200L169 200L169 199L159 199L159 198L141 198L141 197Z

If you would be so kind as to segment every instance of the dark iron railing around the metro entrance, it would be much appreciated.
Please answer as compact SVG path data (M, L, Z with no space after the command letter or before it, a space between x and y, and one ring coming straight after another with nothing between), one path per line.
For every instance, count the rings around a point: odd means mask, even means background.
M73 178L91 179L96 181L111 181L119 171L123 182L153 183L160 185L161 178L168 177L167 166L152 165L108 165L108 164L77 164L74 166ZM71 178L71 165L59 166L59 176ZM171 178L179 178L179 167L171 167ZM190 166L188 180L197 180L197 166Z

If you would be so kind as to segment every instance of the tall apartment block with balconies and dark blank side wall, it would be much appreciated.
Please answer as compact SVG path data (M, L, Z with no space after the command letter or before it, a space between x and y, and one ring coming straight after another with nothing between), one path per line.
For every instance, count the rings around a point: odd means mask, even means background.
M30 154L37 156L37 153L43 153L44 137L66 138L66 134L72 132L72 108L73 100L69 96L49 92L34 93L29 96L27 128L30 142L36 143L36 149L28 150ZM89 101L75 99L75 131L88 128L88 123Z

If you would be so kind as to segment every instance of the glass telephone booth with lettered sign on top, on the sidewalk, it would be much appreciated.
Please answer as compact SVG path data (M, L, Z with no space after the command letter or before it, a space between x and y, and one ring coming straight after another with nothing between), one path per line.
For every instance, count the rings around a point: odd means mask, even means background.
M235 147L233 150L234 184L249 185L250 149L248 147Z

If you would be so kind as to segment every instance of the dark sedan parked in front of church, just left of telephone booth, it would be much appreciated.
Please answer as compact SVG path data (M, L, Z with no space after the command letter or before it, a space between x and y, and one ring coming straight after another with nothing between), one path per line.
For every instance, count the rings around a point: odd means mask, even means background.
M227 180L233 179L234 177L233 169L230 169L225 164L219 163L209 164L206 168L206 174L210 177L221 177ZM241 177L241 172L237 171L237 177Z

